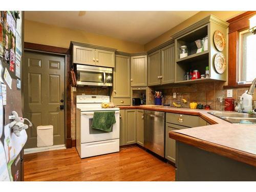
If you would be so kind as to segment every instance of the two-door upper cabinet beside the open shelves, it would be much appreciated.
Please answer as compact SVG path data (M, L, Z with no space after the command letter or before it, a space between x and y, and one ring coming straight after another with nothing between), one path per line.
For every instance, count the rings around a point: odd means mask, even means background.
M170 44L147 56L147 85L173 83L175 81L174 44Z

